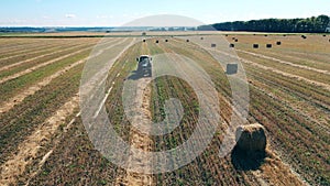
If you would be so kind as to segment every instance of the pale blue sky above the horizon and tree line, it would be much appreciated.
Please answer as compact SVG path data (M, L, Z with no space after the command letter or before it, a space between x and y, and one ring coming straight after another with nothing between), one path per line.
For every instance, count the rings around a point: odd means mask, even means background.
M204 23L330 15L329 0L0 0L0 26L119 26L178 14Z

